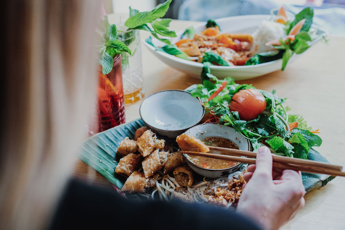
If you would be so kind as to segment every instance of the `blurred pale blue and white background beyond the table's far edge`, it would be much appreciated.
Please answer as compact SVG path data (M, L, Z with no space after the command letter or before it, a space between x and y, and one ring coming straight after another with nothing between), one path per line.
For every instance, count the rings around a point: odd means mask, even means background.
M147 11L166 0L103 0L106 13L128 13L129 6ZM172 0L165 18L206 21L247 14L269 14L284 5L298 13L304 7L314 8L314 23L332 34L345 36L345 0Z

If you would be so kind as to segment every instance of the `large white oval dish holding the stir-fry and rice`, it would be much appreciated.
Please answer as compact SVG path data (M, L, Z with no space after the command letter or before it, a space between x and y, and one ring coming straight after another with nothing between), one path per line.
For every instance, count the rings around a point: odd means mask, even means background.
M235 17L227 17L227 18L220 18L216 19L215 21L218 23L221 33L229 32L229 33L253 33L257 27L261 24L261 22L265 19L268 19L269 15L244 15L244 16L235 16ZM194 29L197 33L205 30L206 22L202 22L197 26L194 26ZM316 26L312 26L316 28ZM177 37L171 39L171 44L176 43L180 40L181 34L184 31L180 31L176 33ZM317 28L317 34L324 34L324 36L328 35L326 30L321 28ZM315 44L321 39L318 36L317 39L313 40L311 44ZM200 73L203 68L203 64L199 62L184 60L181 58L177 58L173 55L170 55L165 52L156 51L154 47L148 44L145 39L143 40L145 46L153 53L158 59L166 63L168 66L180 70L191 77L200 79ZM162 47L165 43L157 40L156 38L152 38L152 43L156 47ZM290 60L289 64L295 61L300 54L294 54ZM271 62L266 62L262 64L257 64L253 66L211 66L211 73L215 75L219 79L224 79L226 77L233 77L235 80L245 80L250 78L255 78L262 76L264 74L280 70L282 68L282 59L278 59ZM288 67L287 67L288 68Z

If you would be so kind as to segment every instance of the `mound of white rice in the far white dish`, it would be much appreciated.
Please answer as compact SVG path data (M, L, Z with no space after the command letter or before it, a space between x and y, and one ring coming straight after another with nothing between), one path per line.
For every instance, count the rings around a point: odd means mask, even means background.
M264 20L253 33L254 47L257 45L256 53L274 50L273 46L265 46L265 43L284 37L286 32L283 24Z

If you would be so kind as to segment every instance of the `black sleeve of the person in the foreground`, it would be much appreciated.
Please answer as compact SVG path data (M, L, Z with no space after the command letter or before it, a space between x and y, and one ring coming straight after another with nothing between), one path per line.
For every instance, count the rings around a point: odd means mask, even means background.
M253 229L248 218L209 204L138 201L77 180L67 186L50 229Z

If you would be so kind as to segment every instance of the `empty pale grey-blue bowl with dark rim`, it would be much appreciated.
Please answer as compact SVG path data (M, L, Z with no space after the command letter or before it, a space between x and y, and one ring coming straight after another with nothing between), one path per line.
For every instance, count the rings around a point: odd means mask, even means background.
M157 134L176 138L204 117L197 98L184 90L164 90L147 97L140 105L140 117Z

